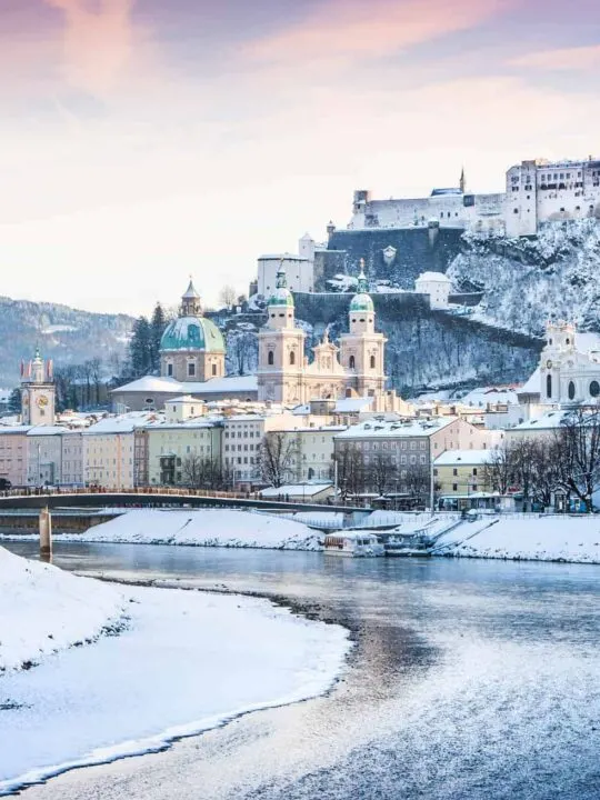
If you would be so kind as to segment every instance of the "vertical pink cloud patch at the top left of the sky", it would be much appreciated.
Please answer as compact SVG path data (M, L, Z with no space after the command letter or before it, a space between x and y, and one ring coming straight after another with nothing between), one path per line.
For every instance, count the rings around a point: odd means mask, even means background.
M134 48L131 10L136 0L46 0L64 14L64 77L92 94L106 96L128 71Z

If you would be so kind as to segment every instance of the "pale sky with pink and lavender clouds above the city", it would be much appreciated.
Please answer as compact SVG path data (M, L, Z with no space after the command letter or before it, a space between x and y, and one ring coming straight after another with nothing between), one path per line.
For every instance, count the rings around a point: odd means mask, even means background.
M0 0L0 293L213 306L354 189L600 156L598 0Z

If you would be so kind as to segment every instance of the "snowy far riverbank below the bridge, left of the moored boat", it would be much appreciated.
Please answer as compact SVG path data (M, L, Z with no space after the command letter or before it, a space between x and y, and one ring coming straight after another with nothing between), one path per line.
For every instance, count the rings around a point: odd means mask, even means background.
M230 509L129 511L61 541L196 544L201 547L319 550L319 533L302 522Z

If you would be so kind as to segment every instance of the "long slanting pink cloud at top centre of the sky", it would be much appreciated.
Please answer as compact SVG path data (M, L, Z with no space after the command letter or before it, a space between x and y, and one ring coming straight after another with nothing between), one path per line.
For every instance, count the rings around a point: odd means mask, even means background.
M331 0L294 28L249 46L264 60L352 60L477 27L516 0Z

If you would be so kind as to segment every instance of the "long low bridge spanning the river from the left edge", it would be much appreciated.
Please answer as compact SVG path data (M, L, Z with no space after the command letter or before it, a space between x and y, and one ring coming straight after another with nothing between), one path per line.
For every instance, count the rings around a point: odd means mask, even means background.
M53 491L49 493L6 492L0 497L0 511L18 509L99 509L99 508L230 508L257 509L263 511L327 512L340 511L352 514L369 513L371 509L353 506L330 506L328 503L308 503L286 500L259 500L247 494L213 492L201 490L181 491L167 488L139 488L118 491L76 490Z

